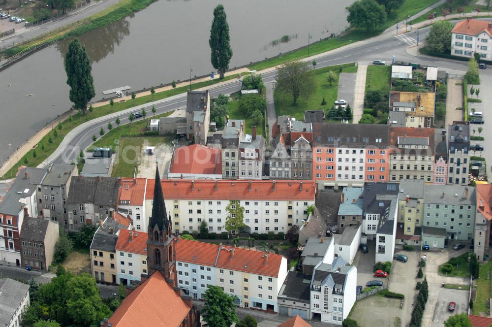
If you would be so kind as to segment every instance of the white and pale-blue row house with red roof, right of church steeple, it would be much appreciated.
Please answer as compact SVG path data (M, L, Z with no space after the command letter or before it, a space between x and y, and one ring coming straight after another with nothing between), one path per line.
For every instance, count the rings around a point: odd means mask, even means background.
M207 284L237 296L236 305L278 312L277 294L287 276L287 259L277 254L175 240L178 286L202 299Z

